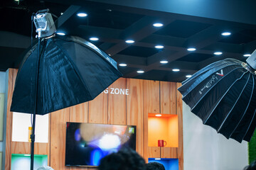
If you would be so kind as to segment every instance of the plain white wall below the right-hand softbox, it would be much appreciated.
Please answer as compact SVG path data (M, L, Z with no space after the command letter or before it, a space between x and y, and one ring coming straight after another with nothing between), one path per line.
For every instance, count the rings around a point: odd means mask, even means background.
M248 164L247 142L227 140L191 113L183 102L184 170L242 170Z

